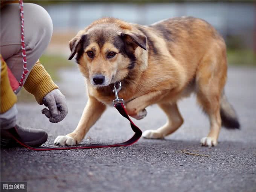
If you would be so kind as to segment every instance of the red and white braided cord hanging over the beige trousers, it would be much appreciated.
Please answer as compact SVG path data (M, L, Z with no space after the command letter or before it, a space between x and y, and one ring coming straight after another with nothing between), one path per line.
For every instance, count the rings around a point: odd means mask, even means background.
M23 0L20 0L20 19L21 19L21 49L22 49L22 62L23 62L23 72L21 75L21 79L19 81L19 87L23 86L23 83L25 81L26 75L29 73L29 70L27 70L27 55L26 55L26 49L25 49L25 36L24 36L24 11L23 11Z

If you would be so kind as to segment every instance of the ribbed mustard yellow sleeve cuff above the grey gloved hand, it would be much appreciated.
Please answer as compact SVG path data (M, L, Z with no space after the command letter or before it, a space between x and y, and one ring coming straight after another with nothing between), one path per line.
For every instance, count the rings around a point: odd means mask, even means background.
M43 104L43 98L53 89L57 89L58 86L52 81L50 75L44 69L44 66L38 60L37 63L31 69L24 88L35 96L38 104Z

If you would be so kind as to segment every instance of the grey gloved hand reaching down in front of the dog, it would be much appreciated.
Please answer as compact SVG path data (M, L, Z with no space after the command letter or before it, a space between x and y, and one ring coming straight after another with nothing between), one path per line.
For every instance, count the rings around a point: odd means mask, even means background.
M66 98L58 89L52 90L43 98L43 104L49 108L44 108L42 113L49 118L52 123L58 123L68 113Z

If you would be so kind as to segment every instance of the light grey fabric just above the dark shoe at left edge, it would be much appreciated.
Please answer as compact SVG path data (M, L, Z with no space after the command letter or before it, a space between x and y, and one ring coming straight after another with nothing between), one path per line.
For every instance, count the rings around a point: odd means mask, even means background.
M9 129L16 125L18 110L16 104L11 109L1 114L1 129Z

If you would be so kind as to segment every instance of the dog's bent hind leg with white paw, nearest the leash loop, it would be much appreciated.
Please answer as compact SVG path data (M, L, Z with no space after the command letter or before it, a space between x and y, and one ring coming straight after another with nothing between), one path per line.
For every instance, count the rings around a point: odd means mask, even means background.
M157 130L146 130L142 136L147 139L163 139L165 136L176 131L183 123L183 118L180 115L176 103L162 103L158 104L167 116L167 122Z

